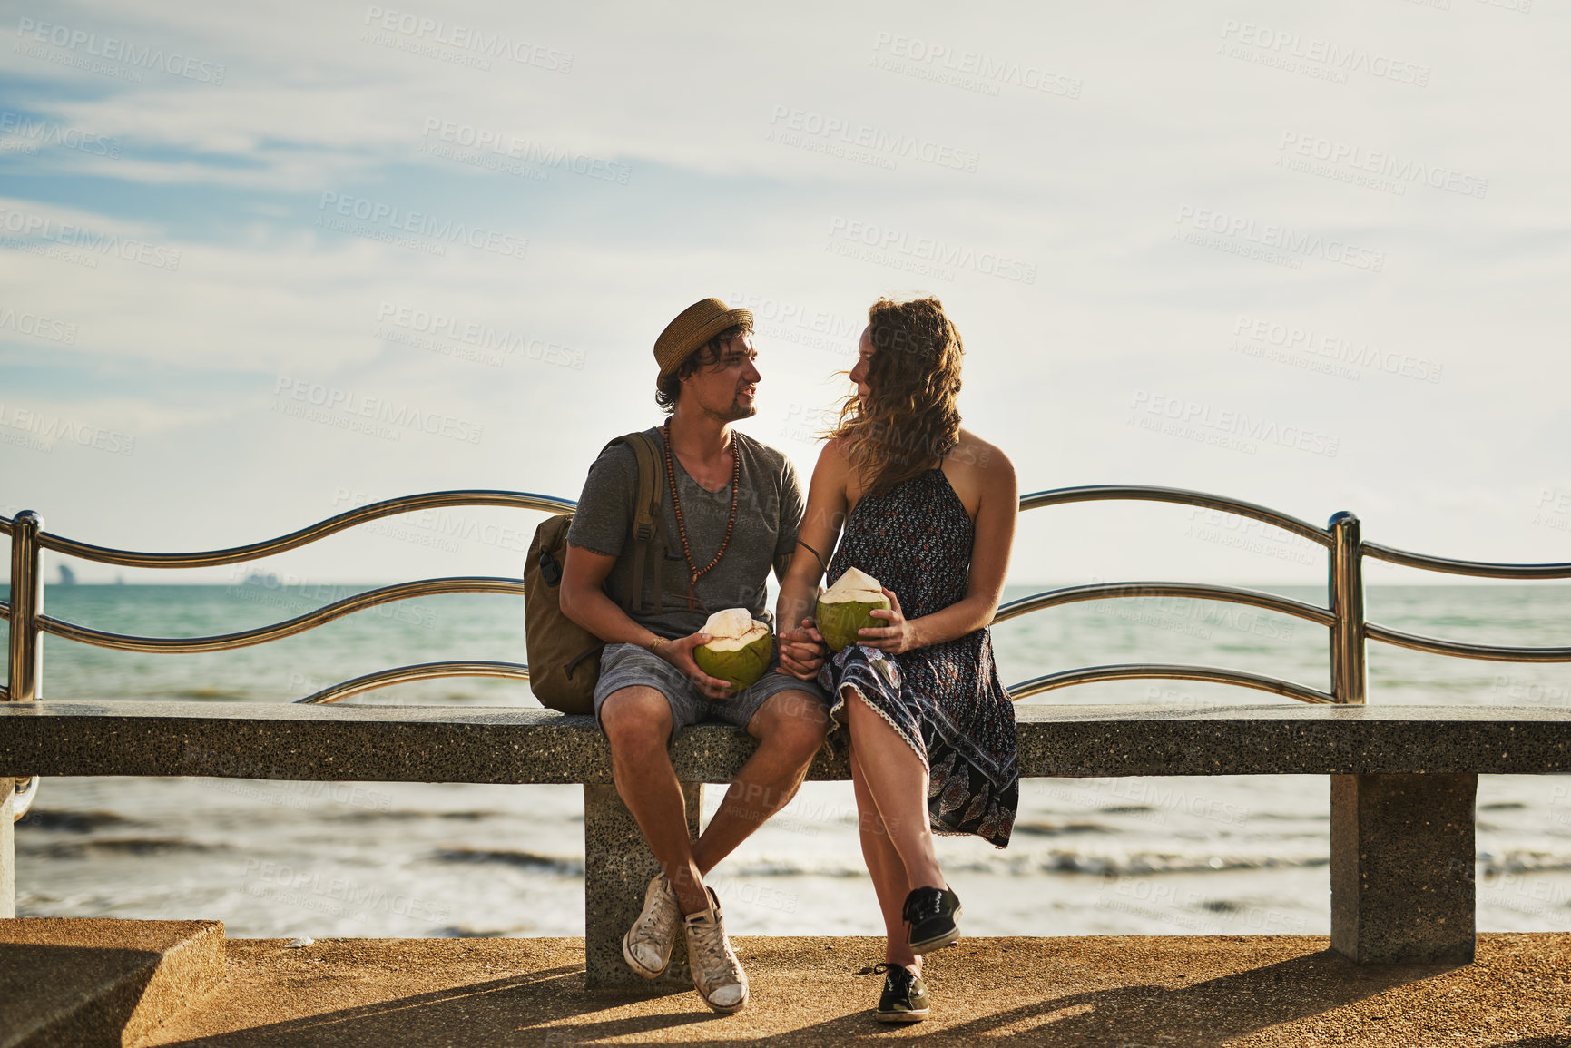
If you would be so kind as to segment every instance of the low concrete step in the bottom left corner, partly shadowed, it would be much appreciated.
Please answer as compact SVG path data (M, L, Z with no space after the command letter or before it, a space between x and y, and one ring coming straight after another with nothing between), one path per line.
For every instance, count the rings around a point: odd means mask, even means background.
M0 1048L138 1043L223 977L223 921L0 921Z

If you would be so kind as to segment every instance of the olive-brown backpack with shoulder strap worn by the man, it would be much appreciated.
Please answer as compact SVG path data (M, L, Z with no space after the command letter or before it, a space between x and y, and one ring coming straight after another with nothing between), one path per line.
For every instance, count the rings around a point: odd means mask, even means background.
M644 600L644 573L655 572L665 558L665 526L660 504L665 497L665 462L660 445L649 434L627 434L605 448L625 443L638 457L638 495L633 500L633 562L627 575L624 611L639 611ZM605 454L602 451L600 454ZM548 517L534 529L523 566L523 632L529 652L529 690L540 705L562 713L594 713L594 685L600 680L600 650L605 641L562 613L561 581L567 562L567 528L572 514ZM657 542L657 539L660 539Z

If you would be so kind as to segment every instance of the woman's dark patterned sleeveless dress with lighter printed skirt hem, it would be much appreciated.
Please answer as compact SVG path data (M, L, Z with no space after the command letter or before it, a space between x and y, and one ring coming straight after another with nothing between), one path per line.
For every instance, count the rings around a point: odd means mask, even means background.
M829 584L859 567L900 599L906 619L966 595L976 525L941 468L862 497L829 559ZM933 833L1004 847L1020 806L1015 707L993 665L987 627L952 641L888 655L850 644L818 672L840 727L855 688L927 765Z

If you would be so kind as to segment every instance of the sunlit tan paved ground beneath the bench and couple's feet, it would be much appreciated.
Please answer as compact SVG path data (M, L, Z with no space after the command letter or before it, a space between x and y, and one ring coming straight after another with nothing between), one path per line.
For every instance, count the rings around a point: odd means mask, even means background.
M1511 1045L1571 1048L1571 935L1485 935L1464 968L1359 968L1316 936L968 940L933 1018L869 1013L867 938L738 938L751 1004L583 988L583 940L229 940L229 980L143 1045Z

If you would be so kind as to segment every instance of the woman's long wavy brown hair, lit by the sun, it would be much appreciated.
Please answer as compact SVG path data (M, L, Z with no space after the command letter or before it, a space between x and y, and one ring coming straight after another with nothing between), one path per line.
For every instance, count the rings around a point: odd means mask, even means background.
M867 404L853 391L826 435L844 438L869 495L943 462L960 443L960 332L938 299L892 302L867 310L873 355L867 363Z

